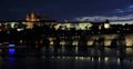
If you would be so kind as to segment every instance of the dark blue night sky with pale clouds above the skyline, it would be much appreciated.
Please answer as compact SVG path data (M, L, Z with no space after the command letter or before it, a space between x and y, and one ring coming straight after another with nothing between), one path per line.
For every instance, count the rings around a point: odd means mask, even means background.
M133 0L0 0L0 20L23 20L31 11L58 21L132 20Z

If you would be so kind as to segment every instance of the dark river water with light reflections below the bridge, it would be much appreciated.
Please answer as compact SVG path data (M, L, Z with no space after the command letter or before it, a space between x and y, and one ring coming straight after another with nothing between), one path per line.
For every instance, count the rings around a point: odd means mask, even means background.
M0 69L133 69L133 49L42 48L0 56Z

